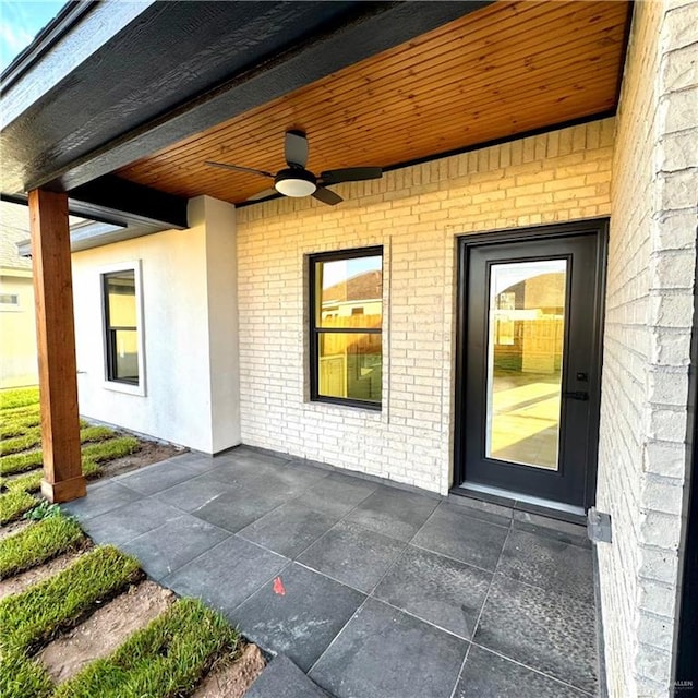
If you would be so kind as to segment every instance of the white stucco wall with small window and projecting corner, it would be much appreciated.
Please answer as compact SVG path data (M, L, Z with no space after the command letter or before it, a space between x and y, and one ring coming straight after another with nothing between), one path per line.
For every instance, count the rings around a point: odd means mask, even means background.
M239 443L234 209L190 203L186 230L73 254L82 414L197 450ZM145 395L105 381L100 273L140 261Z

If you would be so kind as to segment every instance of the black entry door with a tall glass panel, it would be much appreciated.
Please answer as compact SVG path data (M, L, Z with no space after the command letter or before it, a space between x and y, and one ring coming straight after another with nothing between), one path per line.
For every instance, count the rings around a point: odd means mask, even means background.
M589 505L599 401L598 236L465 239L461 479Z

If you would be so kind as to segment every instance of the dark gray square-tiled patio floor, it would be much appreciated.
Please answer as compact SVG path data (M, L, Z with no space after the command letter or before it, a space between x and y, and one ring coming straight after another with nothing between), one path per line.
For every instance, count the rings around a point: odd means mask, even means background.
M65 508L337 698L597 695L579 527L246 447L100 481Z

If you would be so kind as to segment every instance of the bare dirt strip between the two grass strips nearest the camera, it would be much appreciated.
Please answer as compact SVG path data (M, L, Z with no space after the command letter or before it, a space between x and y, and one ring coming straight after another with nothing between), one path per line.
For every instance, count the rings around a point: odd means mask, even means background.
M87 663L113 652L132 633L166 611L174 599L169 589L143 581L53 640L37 658L53 682L68 681Z

